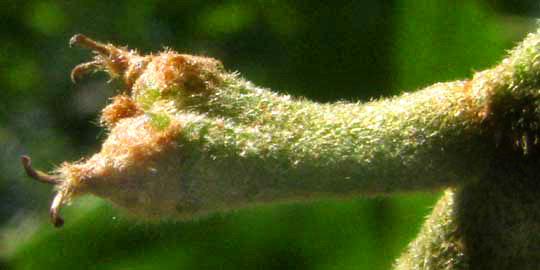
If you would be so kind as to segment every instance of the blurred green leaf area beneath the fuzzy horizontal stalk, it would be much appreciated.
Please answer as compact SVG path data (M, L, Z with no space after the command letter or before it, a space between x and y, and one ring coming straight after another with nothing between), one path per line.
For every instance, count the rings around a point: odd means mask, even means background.
M401 196L399 196L401 197ZM385 269L436 196L320 201L243 209L195 221L143 223L98 201L66 226L18 247L12 269ZM403 208L413 207L403 211ZM117 218L118 217L118 218ZM400 224L400 226L391 225ZM406 224L406 226L403 226ZM395 238L399 240L396 241ZM376 263L373 258L379 258ZM366 264L366 262L370 262Z

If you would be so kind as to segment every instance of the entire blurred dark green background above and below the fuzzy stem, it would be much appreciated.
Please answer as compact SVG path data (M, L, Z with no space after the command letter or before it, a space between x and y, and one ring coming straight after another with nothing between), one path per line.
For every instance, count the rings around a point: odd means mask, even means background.
M0 269L389 269L439 194L268 205L145 223L81 198L54 229L53 169L99 150L100 109L121 85L71 83L84 33L142 52L221 59L254 83L321 102L369 100L496 64L535 29L537 1L2 1Z

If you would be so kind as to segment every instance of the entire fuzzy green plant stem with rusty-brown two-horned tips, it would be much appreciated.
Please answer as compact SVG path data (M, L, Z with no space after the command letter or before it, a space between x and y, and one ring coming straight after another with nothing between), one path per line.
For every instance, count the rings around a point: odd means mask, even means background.
M123 75L131 96L104 109L110 134L88 160L49 176L23 159L31 176L59 186L56 214L87 193L146 216L192 217L452 187L396 269L537 268L539 33L470 81L333 104L258 88L213 59L77 40L99 55L75 75Z

